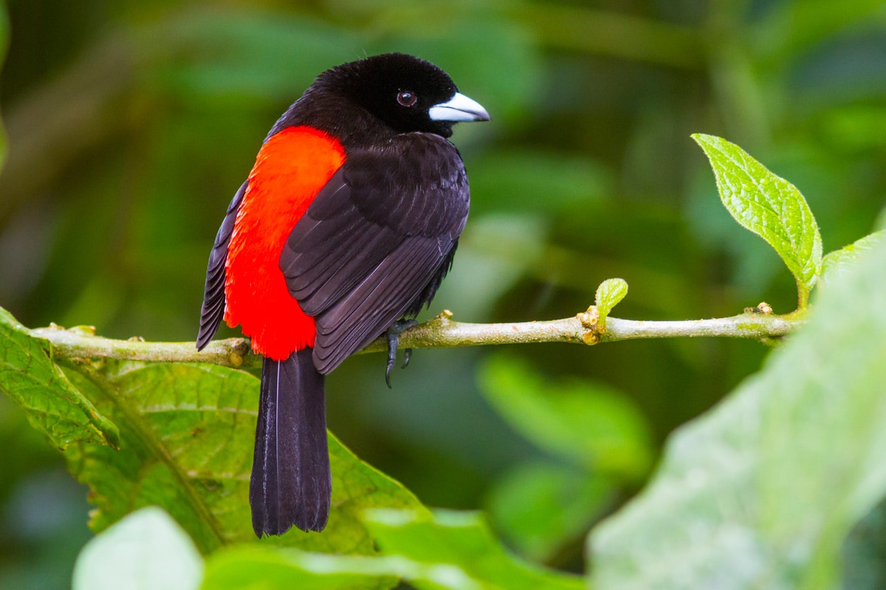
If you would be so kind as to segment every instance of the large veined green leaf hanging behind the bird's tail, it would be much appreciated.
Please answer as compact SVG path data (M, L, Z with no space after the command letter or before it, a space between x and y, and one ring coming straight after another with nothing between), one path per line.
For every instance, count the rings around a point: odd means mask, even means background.
M255 541L249 512L259 380L236 369L178 363L108 362L67 369L76 386L120 426L120 451L71 446L68 467L89 485L96 531L136 508L165 508L207 553ZM266 542L323 552L372 554L359 516L366 508L416 508L412 493L330 434L332 505L322 533L292 529Z

